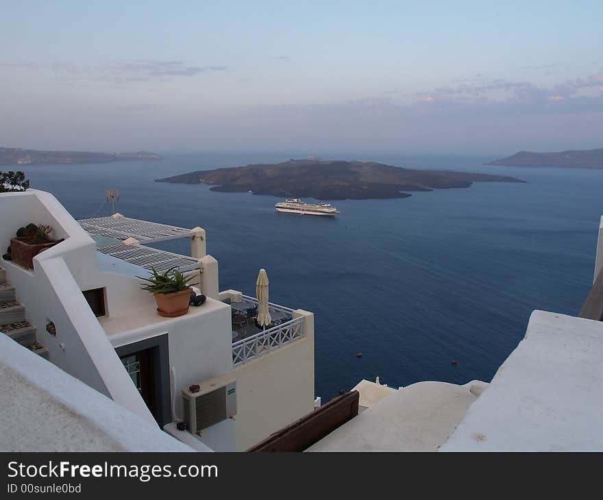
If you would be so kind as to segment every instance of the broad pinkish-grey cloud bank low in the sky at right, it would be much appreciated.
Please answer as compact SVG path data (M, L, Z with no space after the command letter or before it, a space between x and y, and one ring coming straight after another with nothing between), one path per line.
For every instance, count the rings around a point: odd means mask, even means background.
M290 123L306 124L312 130L341 130L355 134L342 124L354 123L371 129L414 134L413 129L443 128L450 125L455 131L458 123L488 124L492 129L515 133L521 121L571 120L573 123L603 114L603 95L599 93L600 75L570 79L562 84L541 87L530 82L493 79L488 82L446 86L413 95L381 95L347 101L308 105L275 105L249 110L249 117L258 124L271 121L278 127ZM585 95L584 90L595 92ZM580 116L584 118L580 118ZM564 118L561 118L564 117ZM552 123L552 122L551 122ZM263 125L262 125L263 126ZM543 125L544 126L544 125ZM549 126L549 125L546 125ZM509 132L513 131L513 132ZM389 132L388 132L389 133ZM332 134L332 132L330 132Z

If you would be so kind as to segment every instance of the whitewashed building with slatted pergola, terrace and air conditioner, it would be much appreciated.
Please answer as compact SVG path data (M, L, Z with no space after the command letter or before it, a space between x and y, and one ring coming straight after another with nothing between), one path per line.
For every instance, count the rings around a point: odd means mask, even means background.
M243 451L314 408L312 313L271 304L280 324L260 330L243 318L234 325L234 309L241 303L253 309L255 299L236 290L219 292L218 263L206 254L200 227L119 214L78 223L38 190L0 194L0 214L3 248L29 223L49 225L53 238L64 238L38 253L31 270L0 260L0 332L17 341L0 351L0 366L10 373L0 379L0 422L12 429L0 436L0 449L84 450L83 433L95 427L98 438L89 447L95 450L182 449L171 434L199 451ZM190 257L146 246L183 237L191 240ZM207 300L184 316L159 316L136 277L151 266L178 266L195 276ZM201 396L190 406L197 423L205 424L198 429L183 403L183 391L194 384ZM8 408L8 400L21 403ZM61 418L40 420L51 406L69 414L82 435L72 433L64 442L51 437L48 431ZM97 416L103 414L115 418L100 424ZM118 417L122 428L127 418L129 427L143 425L147 438L132 432L116 445L121 434L108 422L117 425ZM195 434L176 428L182 420ZM32 427L39 429L35 440L19 438Z

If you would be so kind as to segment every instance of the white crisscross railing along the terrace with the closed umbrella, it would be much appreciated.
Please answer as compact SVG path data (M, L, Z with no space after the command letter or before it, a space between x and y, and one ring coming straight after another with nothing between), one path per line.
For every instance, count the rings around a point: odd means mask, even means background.
M251 298L251 297L249 297ZM281 307L281 306L278 306ZM289 310L293 311L293 310ZM258 332L232 344L232 364L245 363L304 336L304 317Z

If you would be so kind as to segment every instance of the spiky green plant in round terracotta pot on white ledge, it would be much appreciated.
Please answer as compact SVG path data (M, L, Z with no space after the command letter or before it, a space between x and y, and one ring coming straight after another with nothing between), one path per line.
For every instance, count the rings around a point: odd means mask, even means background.
M184 277L175 267L168 269L165 273L158 273L152 267L151 271L151 277L137 277L147 282L140 289L153 294L157 303L157 313L167 318L186 314L192 290L188 283L195 276Z

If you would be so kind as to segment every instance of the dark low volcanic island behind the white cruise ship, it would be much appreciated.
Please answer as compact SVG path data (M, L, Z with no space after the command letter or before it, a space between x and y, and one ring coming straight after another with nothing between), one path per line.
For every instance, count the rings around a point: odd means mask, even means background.
M376 162L289 160L173 175L156 182L209 184L212 191L323 200L404 198L406 191L469 188L473 182L524 182L480 173L416 170Z

